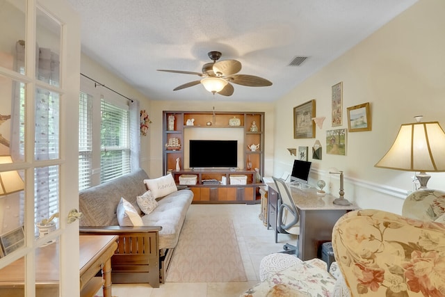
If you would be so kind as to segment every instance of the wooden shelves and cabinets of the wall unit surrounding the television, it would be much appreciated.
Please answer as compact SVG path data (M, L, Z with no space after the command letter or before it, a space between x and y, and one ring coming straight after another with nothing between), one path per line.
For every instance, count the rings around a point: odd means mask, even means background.
M173 129L169 129L169 117L175 117ZM239 119L239 125L229 125L233 118ZM186 125L193 119L193 126ZM252 122L256 123L257 131L250 131ZM243 129L243 139L238 139L243 147L243 166L236 170L229 169L184 169L184 129L215 129L215 139L218 140L218 129ZM170 127L171 128L171 127ZM199 135L199 131L197 131ZM181 147L178 150L168 150L165 144L170 138L177 138ZM252 152L248 145L259 145L259 150ZM263 112L212 112L212 111L163 111L163 173L172 172L179 185L180 175L196 175L197 184L189 185L195 197L194 203L259 203L259 186L257 172L264 176L264 113ZM240 156L238 156L239 158ZM176 160L179 158L181 170L176 170ZM231 175L246 175L245 185L230 184ZM225 176L227 184L202 184L204 179L222 180Z

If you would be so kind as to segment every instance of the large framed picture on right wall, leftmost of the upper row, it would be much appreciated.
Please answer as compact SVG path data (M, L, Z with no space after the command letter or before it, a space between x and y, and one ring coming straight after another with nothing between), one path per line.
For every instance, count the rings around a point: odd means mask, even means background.
M293 108L293 138L315 138L315 99Z

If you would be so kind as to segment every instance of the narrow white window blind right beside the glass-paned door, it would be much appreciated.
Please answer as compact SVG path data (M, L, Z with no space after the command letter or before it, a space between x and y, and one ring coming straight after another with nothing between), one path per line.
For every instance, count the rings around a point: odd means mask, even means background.
M92 97L79 96L79 191L92 182Z

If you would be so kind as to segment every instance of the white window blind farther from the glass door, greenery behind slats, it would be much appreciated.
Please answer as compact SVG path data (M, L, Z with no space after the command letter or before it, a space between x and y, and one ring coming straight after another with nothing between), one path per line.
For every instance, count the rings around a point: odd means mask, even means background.
M129 110L101 99L101 183L131 172Z

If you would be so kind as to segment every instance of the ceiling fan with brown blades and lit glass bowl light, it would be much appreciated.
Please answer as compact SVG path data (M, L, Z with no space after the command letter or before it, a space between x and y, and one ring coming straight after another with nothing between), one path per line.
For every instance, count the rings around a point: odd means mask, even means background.
M234 93L232 83L249 87L272 86L272 82L268 81L267 79L255 77L254 75L236 74L241 70L241 63L236 60L218 61L221 57L221 53L219 51L209 51L208 56L211 58L211 60L213 60L213 62L205 63L202 66L202 73L163 69L158 69L158 71L195 74L198 77L202 77L202 79L198 81L184 83L181 86L177 86L173 90L181 90L202 83L204 88L213 94L218 93L220 95L230 96Z

